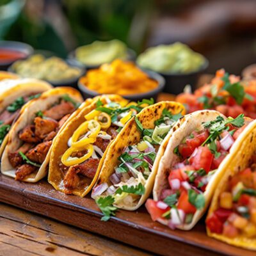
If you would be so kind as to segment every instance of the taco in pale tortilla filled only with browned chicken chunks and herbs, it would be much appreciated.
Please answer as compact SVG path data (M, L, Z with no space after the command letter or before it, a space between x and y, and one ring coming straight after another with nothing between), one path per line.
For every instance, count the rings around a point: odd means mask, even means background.
M52 140L68 118L76 115L82 100L77 90L68 87L54 88L30 100L10 129L1 173L27 182L42 179L47 173Z

